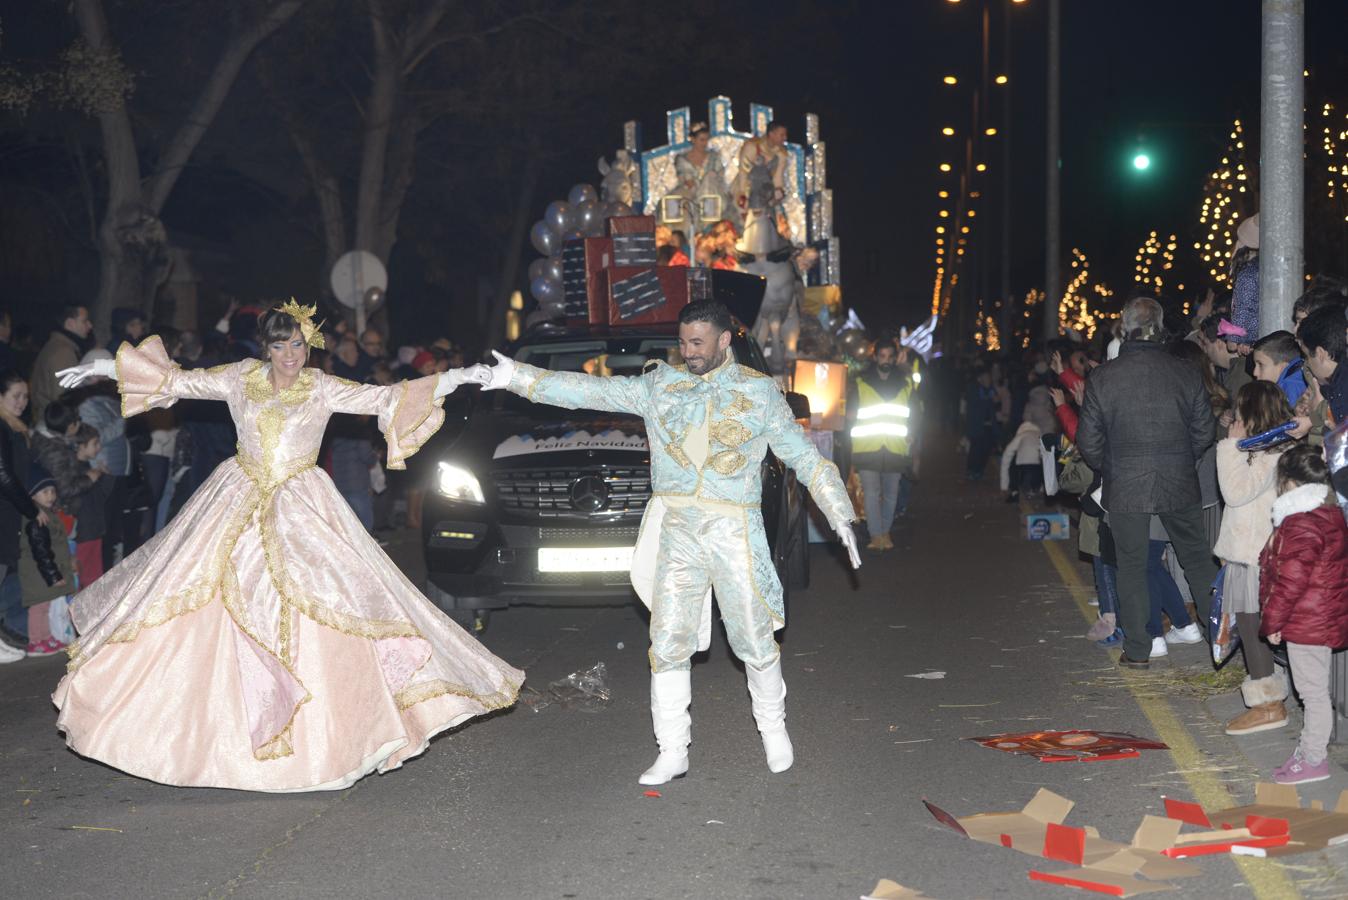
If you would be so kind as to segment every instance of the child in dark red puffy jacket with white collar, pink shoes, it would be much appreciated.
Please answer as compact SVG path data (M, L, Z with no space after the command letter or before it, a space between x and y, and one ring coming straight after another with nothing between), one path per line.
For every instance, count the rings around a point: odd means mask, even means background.
M1348 524L1329 490L1320 447L1301 445L1278 459L1273 524L1259 556L1259 633L1270 644L1287 643L1291 678L1306 707L1297 749L1273 780L1322 781L1333 728L1329 659L1348 644Z

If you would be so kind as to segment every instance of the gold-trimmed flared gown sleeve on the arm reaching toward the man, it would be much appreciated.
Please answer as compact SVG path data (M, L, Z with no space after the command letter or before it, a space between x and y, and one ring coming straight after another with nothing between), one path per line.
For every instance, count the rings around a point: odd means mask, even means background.
M388 445L388 468L406 469L407 458L422 449L445 423L445 400L435 397L438 375L398 384L356 384L322 376L324 396L333 412L372 415Z

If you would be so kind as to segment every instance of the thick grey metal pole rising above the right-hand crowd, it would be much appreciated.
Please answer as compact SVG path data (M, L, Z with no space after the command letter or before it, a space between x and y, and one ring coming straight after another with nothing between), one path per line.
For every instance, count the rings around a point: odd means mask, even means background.
M1287 327L1305 269L1305 3L1263 0L1259 124L1259 331Z

